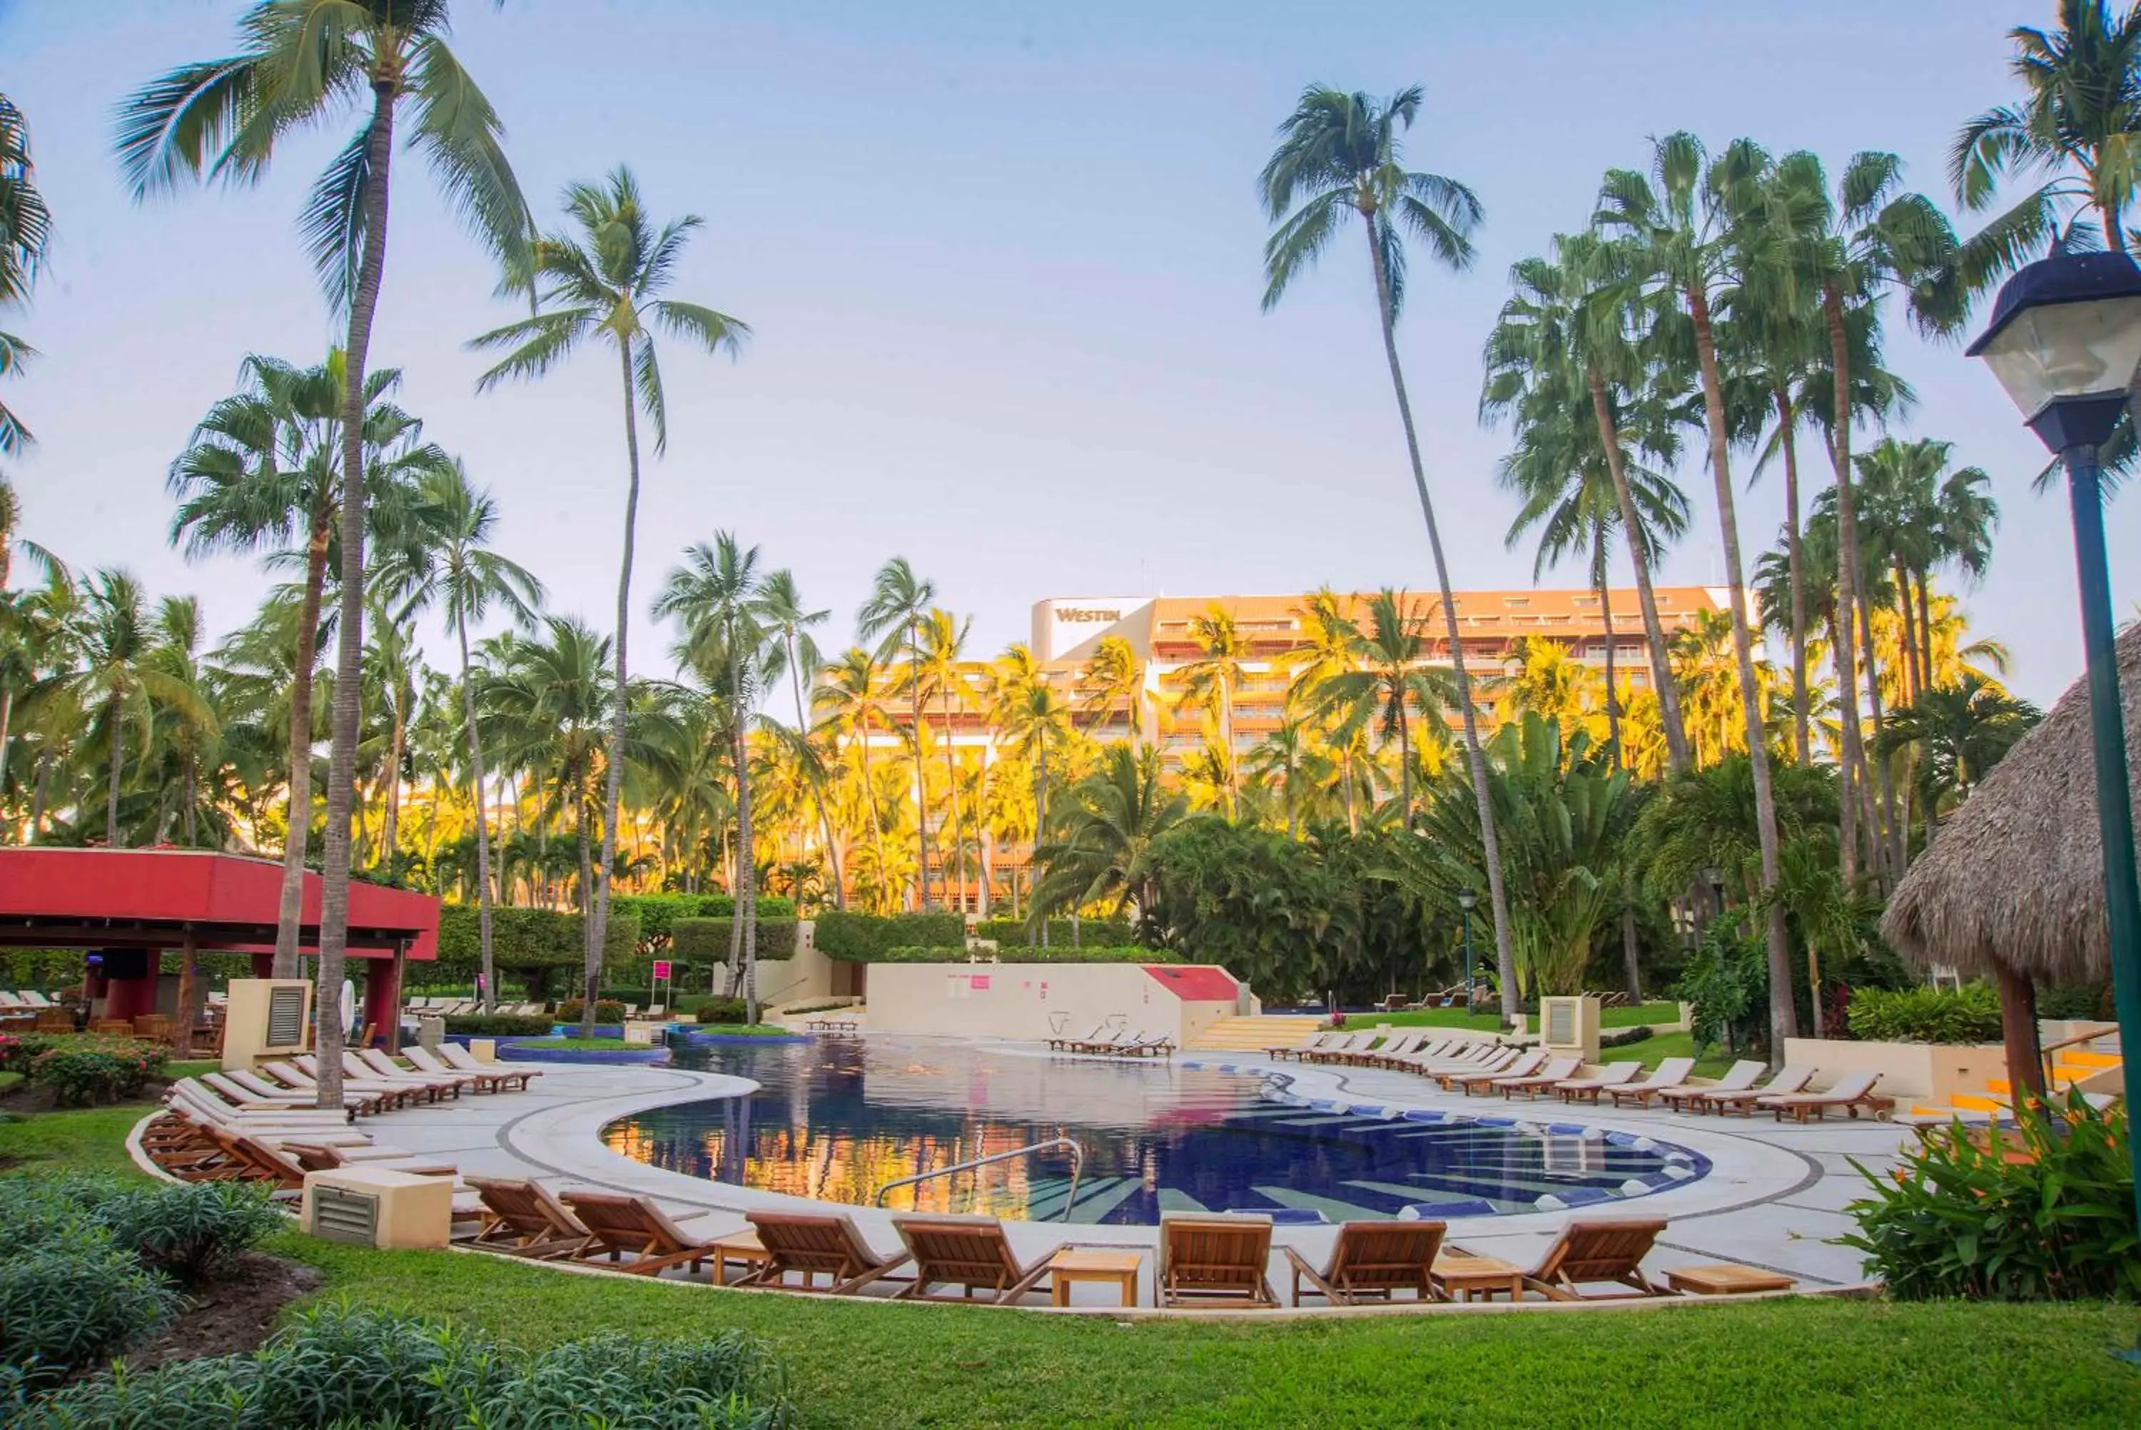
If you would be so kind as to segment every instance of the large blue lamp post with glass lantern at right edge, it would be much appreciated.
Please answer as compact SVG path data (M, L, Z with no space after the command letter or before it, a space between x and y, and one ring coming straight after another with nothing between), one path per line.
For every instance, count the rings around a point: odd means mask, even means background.
M2096 826L2105 843L2111 989L2124 1047L2141 1038L2141 878L2135 873L2098 447L2126 411L2141 366L2141 265L2124 253L2055 248L2008 278L1993 302L1991 325L1965 351L1985 360L2030 430L2066 467L2081 578L2081 649L2090 672L2090 743L2096 747ZM2141 1058L2128 1058L2128 1120L2137 1105ZM2135 1162L2135 1214L2141 1216L2141 1145L2130 1135L2126 1143Z

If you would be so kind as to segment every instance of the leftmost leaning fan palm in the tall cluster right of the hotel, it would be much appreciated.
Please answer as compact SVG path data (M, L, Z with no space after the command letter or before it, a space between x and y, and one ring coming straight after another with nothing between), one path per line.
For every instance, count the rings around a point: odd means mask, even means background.
M1687 497L1649 467L1631 467L1634 452L1666 465L1679 458L1679 437L1672 430L1681 383L1661 364L1646 364L1634 330L1640 319L1638 291L1629 283L1629 255L1595 233L1554 235L1554 261L1524 259L1509 270L1516 293L1503 304L1486 345L1486 385L1479 394L1479 415L1499 420L1512 415L1520 452L1529 445L1518 475L1520 490L1542 490L1539 467L1552 469L1578 460L1604 460L1612 488L1612 512L1627 542L1629 565L1636 572L1636 608L1642 612L1644 642L1651 651L1651 689L1657 696L1659 721L1666 734L1666 756L1674 771L1689 766L1687 728L1681 700L1672 689L1672 657L1666 646L1666 625L1657 614L1657 593L1651 569L1657 565L1661 535L1679 529L1655 529L1655 499ZM1580 435L1576 409L1589 405L1591 439ZM1533 428L1542 428L1531 432ZM1527 435L1531 435L1527 439ZM1542 454L1559 454L1542 462ZM1604 503L1599 503L1604 505ZM1542 546L1544 554L1544 546ZM1597 561L1593 561L1597 565ZM1604 599L1601 610L1604 610ZM1610 621L1612 612L1604 612ZM1612 642L1608 640L1608 651Z

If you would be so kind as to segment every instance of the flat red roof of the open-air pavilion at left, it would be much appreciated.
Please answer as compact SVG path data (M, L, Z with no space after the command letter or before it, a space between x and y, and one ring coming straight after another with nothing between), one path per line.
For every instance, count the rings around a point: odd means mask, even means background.
M300 944L319 942L317 873L304 876ZM0 850L0 946L274 948L283 865L210 850ZM407 888L349 884L349 953L439 957L439 901Z

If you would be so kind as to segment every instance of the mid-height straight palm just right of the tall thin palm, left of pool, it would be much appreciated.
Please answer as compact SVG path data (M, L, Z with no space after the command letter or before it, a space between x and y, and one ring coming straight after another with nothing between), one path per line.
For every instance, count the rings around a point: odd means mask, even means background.
M758 927L756 927L756 858L751 852L751 709L764 687L771 634L758 576L758 548L719 531L713 546L700 542L683 554L662 582L653 606L657 617L674 617L683 627L677 642L679 661L692 666L709 689L728 704L730 739L737 762L737 918L730 925L730 998L741 983L749 1021L758 1021ZM614 784L614 781L612 781ZM593 993L589 993L593 998ZM589 1021L593 1028L593 1021ZM589 1034L593 1036L593 1034Z

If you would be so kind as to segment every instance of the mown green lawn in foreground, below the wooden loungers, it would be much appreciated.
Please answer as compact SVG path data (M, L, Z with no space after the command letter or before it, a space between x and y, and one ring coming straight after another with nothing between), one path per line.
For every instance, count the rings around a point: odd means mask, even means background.
M122 1165L139 1107L0 1126L0 1152ZM2130 1306L1762 1302L1601 1314L1115 1323L621 1278L295 1233L319 1295L527 1347L602 1329L743 1329L788 1364L805 1426L2126 1426ZM2124 1411L2120 1406L2126 1406Z

